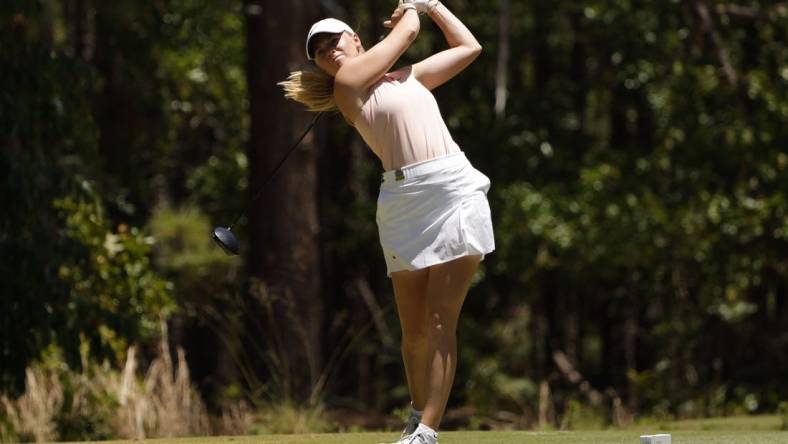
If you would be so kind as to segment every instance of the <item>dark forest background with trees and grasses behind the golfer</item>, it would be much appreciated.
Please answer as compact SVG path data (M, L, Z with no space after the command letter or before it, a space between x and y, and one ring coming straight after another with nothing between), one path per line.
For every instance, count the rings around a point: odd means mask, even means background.
M484 47L435 94L497 242L447 427L775 412L788 5L444 3ZM326 116L249 207L312 118L276 86L309 25L370 47L394 6L1 3L0 438L398 424L377 159ZM423 18L400 65L443 47ZM247 207L227 257L209 233Z

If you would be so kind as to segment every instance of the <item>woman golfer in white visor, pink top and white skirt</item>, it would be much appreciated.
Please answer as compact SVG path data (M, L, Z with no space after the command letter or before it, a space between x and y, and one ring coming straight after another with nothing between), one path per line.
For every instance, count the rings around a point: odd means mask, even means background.
M443 31L449 49L389 70L419 33L419 13ZM339 110L383 163L380 243L402 327L412 412L399 443L437 443L457 366L456 328L479 262L495 249L489 179L452 140L430 90L481 52L465 25L437 0L402 0L388 36L368 51L345 23L315 23L306 40L319 70L282 82L311 111Z

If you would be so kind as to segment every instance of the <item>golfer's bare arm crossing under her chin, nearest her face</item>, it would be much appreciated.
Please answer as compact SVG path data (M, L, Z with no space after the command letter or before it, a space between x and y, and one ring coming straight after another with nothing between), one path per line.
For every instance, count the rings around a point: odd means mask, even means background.
M391 69L416 39L420 29L418 13L414 9L403 10L401 16L396 16L393 26L385 39L369 51L349 59L337 72L334 97L342 114L351 122L355 121L361 109L361 98L369 87Z

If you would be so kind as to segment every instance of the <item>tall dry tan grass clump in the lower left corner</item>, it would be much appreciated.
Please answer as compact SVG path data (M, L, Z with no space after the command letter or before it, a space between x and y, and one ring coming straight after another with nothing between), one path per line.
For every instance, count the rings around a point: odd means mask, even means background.
M144 374L136 347L128 349L122 370L91 364L82 370L59 365L27 369L25 392L0 396L0 440L57 441L144 439L212 433L248 433L253 416L238 404L211 421L194 389L184 351L173 362L163 325L158 354Z

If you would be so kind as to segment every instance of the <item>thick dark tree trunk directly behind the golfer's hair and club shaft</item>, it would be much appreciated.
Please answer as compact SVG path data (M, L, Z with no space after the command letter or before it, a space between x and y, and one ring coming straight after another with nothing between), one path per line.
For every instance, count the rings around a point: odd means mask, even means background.
M311 119L301 105L285 101L276 83L305 60L304 38L317 8L307 0L246 0L244 6L254 193ZM287 383L282 393L298 402L310 399L322 370L315 145L312 135L304 139L249 213L249 274L273 311L267 329L280 339L275 376Z

